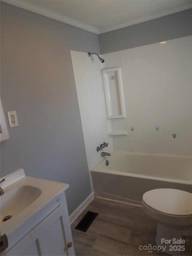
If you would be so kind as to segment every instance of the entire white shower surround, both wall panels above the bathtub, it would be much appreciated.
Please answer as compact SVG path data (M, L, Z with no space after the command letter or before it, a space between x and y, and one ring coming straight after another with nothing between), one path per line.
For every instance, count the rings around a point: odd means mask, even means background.
M71 51L89 170L102 160L96 146L103 141L109 142L107 152L191 155L191 40L103 54L104 63ZM126 118L107 119L101 70L117 67L122 68ZM128 134L109 136L113 131Z

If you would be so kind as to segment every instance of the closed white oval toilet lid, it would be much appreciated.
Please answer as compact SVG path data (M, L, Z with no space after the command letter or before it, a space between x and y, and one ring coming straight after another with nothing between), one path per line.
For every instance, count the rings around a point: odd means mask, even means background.
M171 215L192 215L192 194L186 191L158 188L143 194L143 201L151 208Z

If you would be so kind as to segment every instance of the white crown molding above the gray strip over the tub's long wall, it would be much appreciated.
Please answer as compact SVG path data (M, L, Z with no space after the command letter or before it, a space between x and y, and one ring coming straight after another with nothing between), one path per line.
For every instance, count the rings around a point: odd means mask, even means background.
M115 25L115 26L104 28L104 29L100 29L99 30L99 35L107 33L107 32L111 32L111 31L116 30L116 29L122 29L122 28L125 28L125 27L128 27L128 26L136 25L138 23L142 23L142 22L145 22L145 21L161 18L161 17L167 16L167 15L170 15L170 14L180 12L180 11L185 11L185 10L190 9L190 8L192 8L192 4L185 5L185 6L178 7L178 8L174 8L174 9L171 9L169 11L165 11L165 12L162 12L162 13L159 13L159 14L150 15L150 16L145 17L145 18L141 18L141 19L137 19L137 20L133 20L133 21L128 21L128 22L125 22L125 23L121 23L119 25Z

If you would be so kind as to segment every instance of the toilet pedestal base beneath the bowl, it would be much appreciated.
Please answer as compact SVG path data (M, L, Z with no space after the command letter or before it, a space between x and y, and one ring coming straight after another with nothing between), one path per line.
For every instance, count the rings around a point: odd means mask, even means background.
M164 252L167 254L184 255L185 243L181 241L183 239L182 230L158 223L155 242L158 246L166 246ZM181 242L176 243L178 240Z

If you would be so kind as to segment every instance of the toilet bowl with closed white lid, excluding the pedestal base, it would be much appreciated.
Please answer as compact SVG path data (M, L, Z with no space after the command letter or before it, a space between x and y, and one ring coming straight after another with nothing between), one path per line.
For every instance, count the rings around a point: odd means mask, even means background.
M153 189L143 195L142 207L161 223L192 225L192 194L189 192L170 188Z

